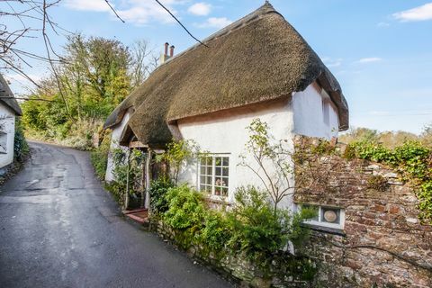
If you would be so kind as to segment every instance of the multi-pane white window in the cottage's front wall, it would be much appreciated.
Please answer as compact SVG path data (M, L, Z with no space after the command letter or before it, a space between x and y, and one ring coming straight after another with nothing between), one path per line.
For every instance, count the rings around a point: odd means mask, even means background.
M200 159L199 189L212 195L227 197L229 187L229 157L206 156Z

